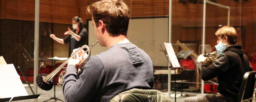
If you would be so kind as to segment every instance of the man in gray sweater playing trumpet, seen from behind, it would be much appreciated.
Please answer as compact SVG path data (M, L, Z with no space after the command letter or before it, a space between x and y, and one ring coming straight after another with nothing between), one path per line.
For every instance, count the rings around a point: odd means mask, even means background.
M91 56L79 76L79 59L69 60L63 78L65 101L109 102L118 93L132 88L152 89L152 61L127 38L128 6L120 0L102 0L88 5L87 13L92 15L99 44L108 50Z

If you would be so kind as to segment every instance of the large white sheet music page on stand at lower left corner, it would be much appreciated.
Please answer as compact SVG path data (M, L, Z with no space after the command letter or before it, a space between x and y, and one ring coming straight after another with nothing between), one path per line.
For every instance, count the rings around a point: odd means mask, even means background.
M0 83L2 98L28 95L13 64L0 65Z

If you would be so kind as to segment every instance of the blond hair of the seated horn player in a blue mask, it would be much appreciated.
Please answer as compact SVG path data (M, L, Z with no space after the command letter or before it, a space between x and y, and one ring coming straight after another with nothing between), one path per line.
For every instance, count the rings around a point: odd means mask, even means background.
M237 43L237 31L233 27L224 26L215 32L216 36L221 38L227 36L228 43L233 45Z

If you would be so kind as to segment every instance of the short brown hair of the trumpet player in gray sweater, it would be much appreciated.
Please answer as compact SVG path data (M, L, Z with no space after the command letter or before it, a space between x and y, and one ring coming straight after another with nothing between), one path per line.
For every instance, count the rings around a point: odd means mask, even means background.
M93 15L96 27L102 20L111 36L127 35L129 13L129 7L120 0L97 1L87 7L87 14Z

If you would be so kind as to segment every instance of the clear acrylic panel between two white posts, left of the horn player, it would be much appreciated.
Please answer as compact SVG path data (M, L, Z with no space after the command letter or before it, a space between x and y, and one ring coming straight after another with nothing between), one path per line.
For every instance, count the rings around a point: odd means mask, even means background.
M200 1L172 0L172 35L171 42L175 53L192 50L189 56L178 57L182 68L171 71L171 89L175 101L183 101L185 97L201 93L201 77L197 70L196 59L202 44L202 13ZM176 70L176 74L174 73ZM181 94L182 93L182 94ZM175 94L174 94L175 95ZM182 96L181 96L182 95Z

